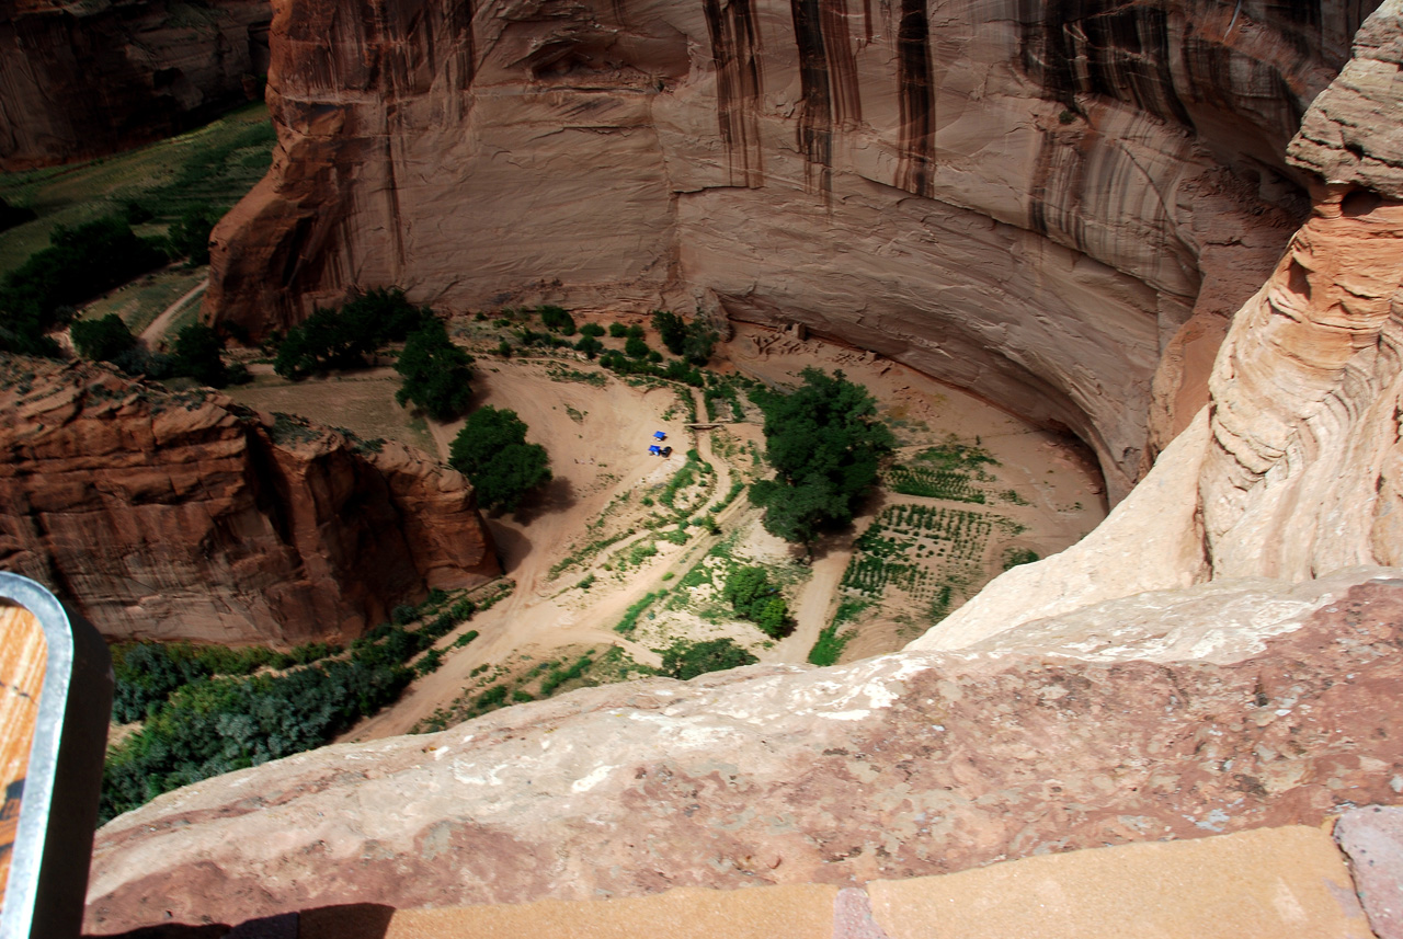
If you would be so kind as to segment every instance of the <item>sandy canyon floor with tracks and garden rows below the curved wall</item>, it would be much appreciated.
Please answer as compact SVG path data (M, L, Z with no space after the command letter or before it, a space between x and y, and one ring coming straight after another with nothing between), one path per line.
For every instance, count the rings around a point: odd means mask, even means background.
M581 324L634 320L575 315ZM469 698L497 683L540 694L530 685L536 676L586 653L595 681L655 669L678 640L731 638L762 663L803 663L835 619L847 639L843 662L892 652L1016 556L1061 551L1106 514L1100 475L1075 440L871 353L739 325L717 349L718 374L791 385L810 366L842 370L868 388L898 439L894 468L861 517L805 563L800 548L765 533L745 498L742 485L766 468L762 416L744 391L735 405L717 401L724 413L710 420L700 390L620 378L568 350L502 359L488 352L499 329L466 317L453 332L477 355L474 406L516 411L528 439L550 453L554 479L518 513L488 516L513 593L445 636L442 666L342 740L453 723L467 716ZM659 345L651 331L648 338ZM253 370L253 384L230 391L250 406L436 450L445 461L462 426L396 405L398 376L383 364L299 383L267 364ZM669 458L648 454L655 430L668 434ZM920 454L951 444L992 461L957 474L954 489L941 491L954 498L894 489L892 474L929 481ZM941 479L948 488L951 478ZM703 521L709 514L716 533ZM859 541L864 533L870 544ZM727 573L748 565L781 584L794 617L783 639L720 600ZM620 635L615 628L626 619L636 625ZM480 636L455 646L469 629ZM612 647L622 652L606 654Z

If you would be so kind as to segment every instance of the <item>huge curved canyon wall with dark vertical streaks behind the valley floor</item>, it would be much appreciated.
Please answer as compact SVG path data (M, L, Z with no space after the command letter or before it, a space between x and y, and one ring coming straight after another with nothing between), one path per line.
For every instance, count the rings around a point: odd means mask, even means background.
M1303 214L1285 143L1374 6L279 0L206 315L396 283L798 321L1072 429L1118 499Z

